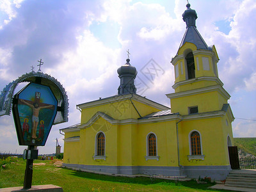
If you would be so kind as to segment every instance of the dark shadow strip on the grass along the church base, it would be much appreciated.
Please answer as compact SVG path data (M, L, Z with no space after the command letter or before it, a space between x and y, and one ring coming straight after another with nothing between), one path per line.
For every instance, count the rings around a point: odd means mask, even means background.
M98 173L88 173L81 171L72 171L70 175L74 175L76 177L81 177L84 179L93 179L100 181L109 181L109 182L120 182L126 184L141 184L141 185L159 185L159 186L184 186L187 188L193 189L202 189L214 191L212 189L208 189L210 186L213 186L214 183L205 183L198 184L196 180L189 181L177 181L175 180L166 180L166 179L150 179L149 177L122 177L122 176L114 176L114 175L101 175ZM218 190L220 191L220 190ZM226 191L226 190L221 190Z

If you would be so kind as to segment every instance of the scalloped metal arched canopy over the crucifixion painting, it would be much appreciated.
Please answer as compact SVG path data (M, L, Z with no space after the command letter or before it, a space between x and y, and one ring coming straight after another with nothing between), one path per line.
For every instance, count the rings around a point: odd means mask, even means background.
M15 88L19 83L39 83L49 86L58 100L58 111L53 124L68 122L68 97L67 92L57 79L42 72L26 73L7 84L0 95L0 116L10 115L12 111L12 99Z

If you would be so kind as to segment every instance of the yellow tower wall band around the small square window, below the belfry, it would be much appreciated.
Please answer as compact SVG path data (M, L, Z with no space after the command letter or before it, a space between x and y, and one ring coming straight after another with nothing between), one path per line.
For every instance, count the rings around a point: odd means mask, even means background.
M221 110L222 105L217 91L171 99L172 112L181 115L188 115L189 107L198 106L198 113L204 113Z

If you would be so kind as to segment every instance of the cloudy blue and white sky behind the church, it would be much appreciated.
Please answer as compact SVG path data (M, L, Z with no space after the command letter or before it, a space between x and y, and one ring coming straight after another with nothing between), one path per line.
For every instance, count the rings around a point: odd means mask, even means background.
M256 1L190 0L196 28L208 46L215 45L218 74L231 95L234 137L256 137ZM59 130L80 122L77 104L117 94L116 70L127 50L136 67L137 93L170 107L173 93L170 63L186 24L185 0L2 0L0 1L0 90L22 74L44 65L58 79L69 99L68 122L53 125L39 154L55 152ZM154 66L152 66L154 63ZM148 70L156 67L155 73ZM26 84L19 84L19 92ZM13 116L0 117L0 152L23 153Z

